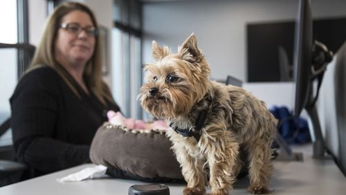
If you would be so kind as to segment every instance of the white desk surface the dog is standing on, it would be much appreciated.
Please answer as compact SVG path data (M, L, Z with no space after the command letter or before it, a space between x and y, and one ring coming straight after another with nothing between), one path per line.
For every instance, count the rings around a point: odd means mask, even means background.
M316 160L311 158L311 145L295 147L294 151L302 151L304 162L283 162L275 160L275 171L271 180L272 194L346 194L346 178L331 159ZM74 195L126 195L131 185L142 182L136 180L121 180L102 178L71 183L57 183L56 178L62 178L93 165L81 165L58 171L53 174L33 178L13 185L0 187L1 195L22 194L74 194ZM167 184L170 194L182 194L183 184ZM247 194L248 178L237 180L231 194Z

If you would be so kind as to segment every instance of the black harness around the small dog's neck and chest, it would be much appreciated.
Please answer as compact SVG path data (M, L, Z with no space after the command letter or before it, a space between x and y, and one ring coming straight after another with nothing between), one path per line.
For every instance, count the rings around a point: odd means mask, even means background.
M173 123L171 122L169 125L170 127L176 131L176 133L181 134L183 137L194 137L197 142L199 142L199 138L201 138L201 129L203 127L204 122L206 122L207 118L207 112L206 111L201 111L199 113L199 117L197 119L196 124L193 127L190 127L189 129L179 129L178 127L172 127Z

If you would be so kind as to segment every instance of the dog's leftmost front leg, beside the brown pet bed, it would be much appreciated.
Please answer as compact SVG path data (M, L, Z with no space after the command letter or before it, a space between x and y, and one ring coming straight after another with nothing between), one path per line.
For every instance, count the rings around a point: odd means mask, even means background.
M194 138L173 142L176 159L181 165L182 174L188 183L183 194L202 195L206 192L206 175L203 173L203 158L196 147Z

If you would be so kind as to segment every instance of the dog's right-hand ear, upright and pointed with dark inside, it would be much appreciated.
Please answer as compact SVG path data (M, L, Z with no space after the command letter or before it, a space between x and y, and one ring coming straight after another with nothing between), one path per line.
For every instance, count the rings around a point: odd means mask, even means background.
M181 58L188 62L200 62L203 57L201 51L197 48L197 38L194 36L193 32L178 50L181 54Z

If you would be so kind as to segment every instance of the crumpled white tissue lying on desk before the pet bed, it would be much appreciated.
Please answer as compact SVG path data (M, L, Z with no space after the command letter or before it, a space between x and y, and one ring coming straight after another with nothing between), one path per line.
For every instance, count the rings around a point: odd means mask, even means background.
M87 167L85 169L82 169L81 171L78 171L77 173L69 174L68 176L63 178L57 178L57 182L64 183L70 181L86 180L88 178L102 178L107 176L106 170L107 167L104 167L103 165Z

